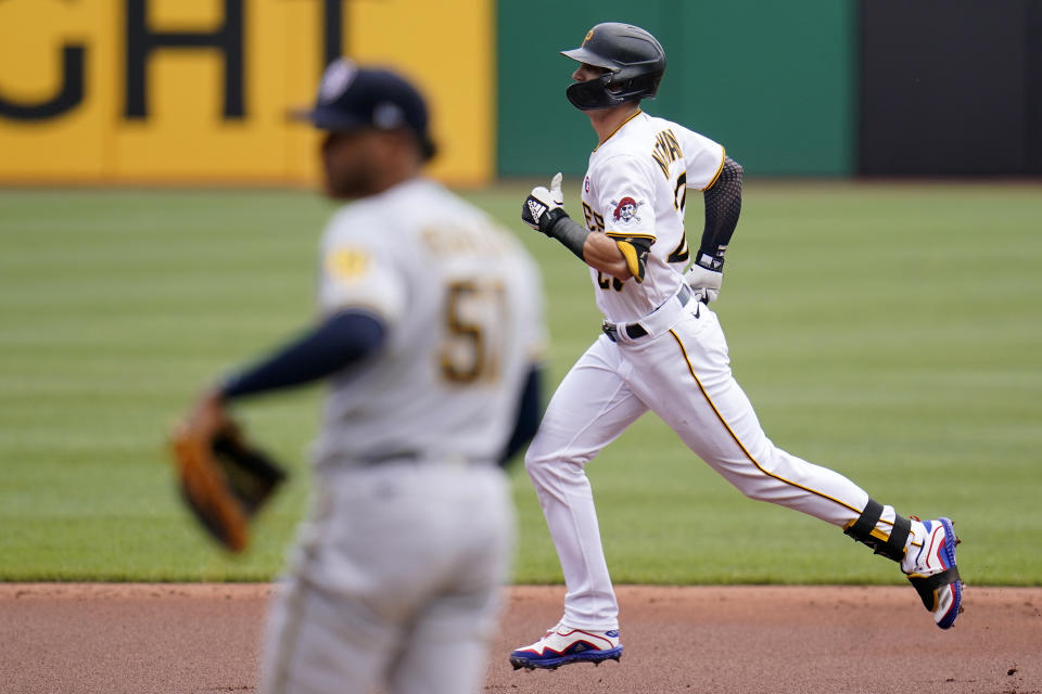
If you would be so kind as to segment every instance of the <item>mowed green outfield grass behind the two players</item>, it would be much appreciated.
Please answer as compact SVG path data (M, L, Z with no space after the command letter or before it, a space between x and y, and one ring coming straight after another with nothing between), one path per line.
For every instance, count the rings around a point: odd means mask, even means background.
M528 188L465 194L542 264L552 386L600 319L584 268L517 220ZM209 378L309 320L331 209L306 191L0 190L0 580L276 575L319 389L239 408L294 473L244 557L181 509L164 437ZM768 436L903 513L955 518L967 583L1042 586L1042 187L752 181L727 258L716 310ZM559 582L511 474L516 580ZM589 475L619 582L903 580L838 529L742 498L653 416Z

